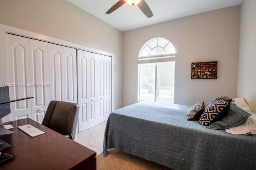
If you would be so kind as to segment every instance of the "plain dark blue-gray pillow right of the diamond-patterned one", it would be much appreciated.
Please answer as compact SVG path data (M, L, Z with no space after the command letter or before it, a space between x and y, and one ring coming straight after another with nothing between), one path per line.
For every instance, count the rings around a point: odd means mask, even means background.
M251 114L237 107L234 104L230 104L228 113L220 119L209 125L209 128L224 130L227 128L235 127L246 121Z

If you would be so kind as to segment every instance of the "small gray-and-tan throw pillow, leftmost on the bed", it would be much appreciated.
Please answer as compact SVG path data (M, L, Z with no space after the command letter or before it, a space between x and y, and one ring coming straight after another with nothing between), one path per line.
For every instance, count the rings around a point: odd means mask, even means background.
M187 112L187 120L188 121L196 121L204 112L204 101L194 104L192 107L188 109Z

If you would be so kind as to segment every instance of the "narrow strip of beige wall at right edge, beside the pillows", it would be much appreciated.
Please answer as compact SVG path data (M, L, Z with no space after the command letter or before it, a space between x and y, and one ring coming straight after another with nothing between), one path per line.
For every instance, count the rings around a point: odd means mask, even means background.
M244 97L256 113L256 1L241 6L240 52L237 97Z

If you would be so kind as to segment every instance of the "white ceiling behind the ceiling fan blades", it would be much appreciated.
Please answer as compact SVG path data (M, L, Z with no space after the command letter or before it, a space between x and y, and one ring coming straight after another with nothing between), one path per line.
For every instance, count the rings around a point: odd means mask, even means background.
M67 0L118 30L127 31L184 16L242 4L243 0L145 0L154 16L147 18L138 6L122 5L105 14L118 0Z

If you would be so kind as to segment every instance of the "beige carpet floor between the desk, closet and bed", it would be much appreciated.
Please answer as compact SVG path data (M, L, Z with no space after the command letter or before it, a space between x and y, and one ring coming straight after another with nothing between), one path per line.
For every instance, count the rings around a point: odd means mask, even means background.
M171 170L157 164L115 149L109 149L106 157L102 156L103 138L106 122L79 132L75 141L97 153L97 170Z

